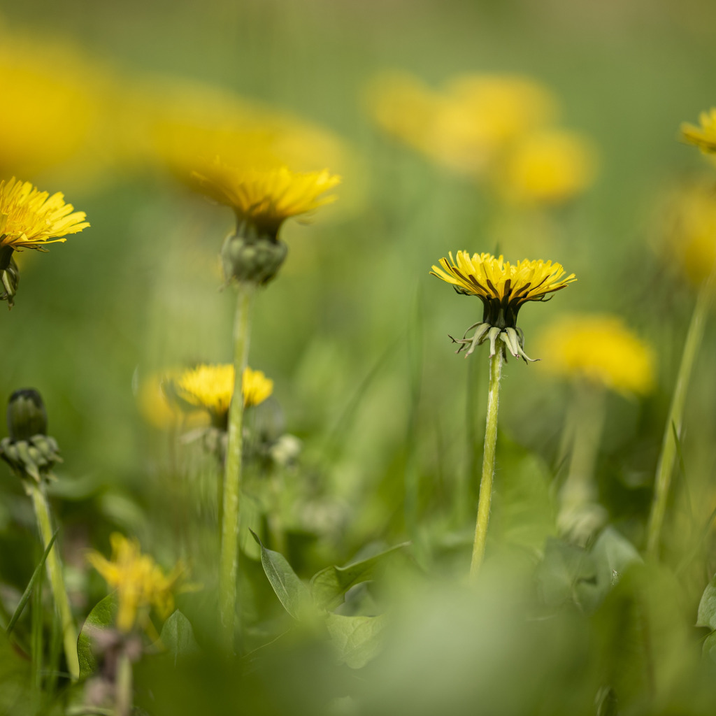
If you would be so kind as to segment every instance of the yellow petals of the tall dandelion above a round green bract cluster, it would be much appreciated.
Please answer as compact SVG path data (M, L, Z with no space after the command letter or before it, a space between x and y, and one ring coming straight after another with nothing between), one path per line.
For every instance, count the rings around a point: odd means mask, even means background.
M281 223L331 203L323 196L340 182L329 170L298 173L285 166L269 169L229 167L220 160L194 172L198 188L219 203L231 206L239 221L276 236Z

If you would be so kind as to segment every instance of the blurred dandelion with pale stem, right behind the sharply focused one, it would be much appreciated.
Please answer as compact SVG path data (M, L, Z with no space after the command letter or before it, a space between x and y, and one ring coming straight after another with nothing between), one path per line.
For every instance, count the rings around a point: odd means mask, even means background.
M563 316L541 334L546 369L571 379L573 397L565 420L561 459L569 470L559 493L557 526L572 541L586 545L604 526L594 468L604 427L604 392L626 397L654 388L656 354L619 316Z

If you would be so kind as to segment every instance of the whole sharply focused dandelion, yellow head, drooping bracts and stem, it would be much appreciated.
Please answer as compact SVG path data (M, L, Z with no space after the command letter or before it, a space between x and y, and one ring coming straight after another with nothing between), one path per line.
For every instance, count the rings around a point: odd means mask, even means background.
M525 362L531 360L524 352L524 337L517 327L518 311L528 301L545 301L550 294L565 289L576 281L576 278L574 274L568 276L561 263L552 261L525 259L513 265L504 261L502 256L495 257L489 253L474 253L470 256L467 251L458 251L456 259L452 253L449 256L449 261L443 257L440 259L440 266L432 266L430 273L451 284L458 294L477 296L483 304L482 321L470 326L463 339L453 339L453 342L460 344L457 352L468 349L465 354L468 356L485 340L490 342L490 383L483 474L480 479L478 518L470 563L470 576L475 579L485 555L490 520L503 357L506 357L505 351L509 351L514 357L521 357ZM468 338L471 330L474 330L473 337Z

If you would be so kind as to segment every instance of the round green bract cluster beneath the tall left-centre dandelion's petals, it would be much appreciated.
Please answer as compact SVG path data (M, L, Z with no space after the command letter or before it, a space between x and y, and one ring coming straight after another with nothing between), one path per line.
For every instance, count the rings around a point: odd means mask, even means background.
M226 283L238 281L261 286L276 276L289 247L276 232L261 230L250 222L238 220L236 231L229 234L221 248L221 263Z

